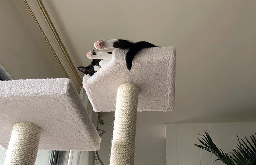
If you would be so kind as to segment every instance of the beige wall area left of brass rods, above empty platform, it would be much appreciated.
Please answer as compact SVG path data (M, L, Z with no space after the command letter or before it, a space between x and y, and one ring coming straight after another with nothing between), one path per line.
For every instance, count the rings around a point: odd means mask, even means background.
M0 62L14 79L65 77L46 42L38 43L13 2L0 1L0 22Z

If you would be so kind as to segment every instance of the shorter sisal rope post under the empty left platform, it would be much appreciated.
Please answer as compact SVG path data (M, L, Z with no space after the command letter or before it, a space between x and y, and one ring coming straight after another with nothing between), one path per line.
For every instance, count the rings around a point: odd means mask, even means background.
M4 165L34 165L42 130L32 123L16 123L6 152Z

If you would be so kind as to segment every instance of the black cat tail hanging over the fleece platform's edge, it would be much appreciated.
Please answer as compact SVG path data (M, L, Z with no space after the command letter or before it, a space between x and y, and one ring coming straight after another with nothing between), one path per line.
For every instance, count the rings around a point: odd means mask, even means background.
M126 66L128 70L131 70L132 67L132 60L134 59L134 56L143 48L152 48L157 47L149 42L146 41L140 41L136 42L132 47L129 49L129 51L126 54Z

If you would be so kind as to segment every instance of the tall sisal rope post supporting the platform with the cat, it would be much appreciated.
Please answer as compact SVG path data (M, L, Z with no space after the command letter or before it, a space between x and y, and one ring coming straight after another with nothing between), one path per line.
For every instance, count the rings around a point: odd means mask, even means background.
M116 96L110 165L133 165L139 89L121 84Z

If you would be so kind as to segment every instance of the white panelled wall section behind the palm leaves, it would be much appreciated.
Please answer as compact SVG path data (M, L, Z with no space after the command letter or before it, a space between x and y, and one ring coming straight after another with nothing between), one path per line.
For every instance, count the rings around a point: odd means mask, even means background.
M167 124L167 165L212 165L217 157L194 146L199 144L197 137L203 131L208 131L217 147L228 153L238 143L236 135L242 139L249 137L256 132L256 123ZM213 164L224 165L220 161Z

